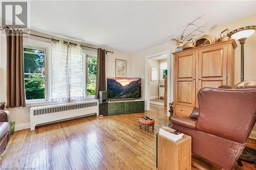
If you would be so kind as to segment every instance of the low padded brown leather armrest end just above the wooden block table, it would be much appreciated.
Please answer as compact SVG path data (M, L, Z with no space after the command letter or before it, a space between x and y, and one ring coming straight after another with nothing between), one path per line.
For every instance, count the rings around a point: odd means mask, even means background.
M180 125L180 126L183 126L183 127L189 128L189 129L193 129L193 130L196 129L197 120L195 120L193 118L179 117L179 116L174 115L170 118L170 121L176 125Z

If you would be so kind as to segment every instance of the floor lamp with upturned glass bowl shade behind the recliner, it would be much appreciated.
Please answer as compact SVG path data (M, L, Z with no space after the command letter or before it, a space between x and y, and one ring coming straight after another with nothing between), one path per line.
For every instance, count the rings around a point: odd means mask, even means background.
M228 37L239 40L241 44L241 82L244 81L244 44L245 40L256 31L256 26L242 27L231 31L227 34Z

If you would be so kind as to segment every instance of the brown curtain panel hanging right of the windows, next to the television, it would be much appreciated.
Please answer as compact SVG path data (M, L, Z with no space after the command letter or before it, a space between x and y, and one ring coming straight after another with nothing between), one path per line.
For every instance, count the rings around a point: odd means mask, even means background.
M106 91L105 50L101 48L98 49L95 99L99 99L99 91Z

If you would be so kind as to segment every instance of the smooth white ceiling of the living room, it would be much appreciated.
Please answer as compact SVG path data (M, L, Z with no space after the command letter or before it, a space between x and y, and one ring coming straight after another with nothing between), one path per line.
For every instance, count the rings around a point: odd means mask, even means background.
M31 1L30 29L135 53L196 16L210 28L253 13L255 1Z

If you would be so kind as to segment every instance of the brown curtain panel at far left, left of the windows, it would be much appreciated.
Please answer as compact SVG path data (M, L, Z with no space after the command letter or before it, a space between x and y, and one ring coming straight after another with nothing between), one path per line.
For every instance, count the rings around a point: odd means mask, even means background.
M23 33L7 30L7 108L26 106L23 64Z

